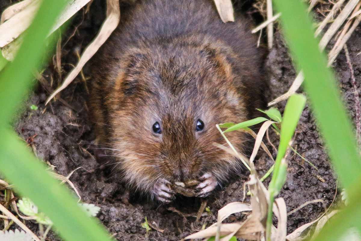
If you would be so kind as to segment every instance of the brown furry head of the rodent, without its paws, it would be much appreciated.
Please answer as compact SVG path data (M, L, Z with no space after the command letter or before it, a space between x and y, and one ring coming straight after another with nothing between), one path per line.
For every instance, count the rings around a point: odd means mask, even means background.
M130 50L109 96L113 155L125 179L144 190L159 178L184 181L212 172L224 180L242 169L213 145L226 143L216 124L250 117L249 97L237 80L242 76L234 74L222 46L168 46ZM227 137L244 150L243 133Z

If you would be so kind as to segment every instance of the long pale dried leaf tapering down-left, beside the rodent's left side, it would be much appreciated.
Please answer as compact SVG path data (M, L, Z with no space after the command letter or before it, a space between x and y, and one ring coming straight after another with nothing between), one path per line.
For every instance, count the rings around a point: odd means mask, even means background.
M106 39L109 38L110 34L116 29L120 20L120 9L119 9L119 1L118 0L107 0L106 1L106 19L101 26L101 29L96 36L96 38L91 42L87 48L84 50L79 63L69 75L65 78L62 85L56 89L53 94L47 99L45 104L48 104L49 101L58 94L61 90L65 89L75 77L82 70L83 66L87 63L87 61L96 53L96 51L103 45Z

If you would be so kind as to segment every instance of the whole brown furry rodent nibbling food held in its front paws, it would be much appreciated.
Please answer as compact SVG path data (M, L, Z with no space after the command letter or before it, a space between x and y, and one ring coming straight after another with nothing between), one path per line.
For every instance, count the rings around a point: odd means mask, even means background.
M90 109L109 161L136 190L170 202L168 184L197 179L210 194L242 163L216 148L216 124L263 108L264 51L240 15L223 23L212 0L138 1L92 64ZM240 151L242 132L227 133ZM249 146L248 146L249 148Z

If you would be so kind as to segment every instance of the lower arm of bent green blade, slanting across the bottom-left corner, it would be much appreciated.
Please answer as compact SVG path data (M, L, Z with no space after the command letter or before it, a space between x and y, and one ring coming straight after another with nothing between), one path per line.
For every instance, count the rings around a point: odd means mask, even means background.
M105 229L81 210L74 195L45 171L45 165L30 153L25 142L5 128L0 131L1 172L53 221L64 240L110 240Z

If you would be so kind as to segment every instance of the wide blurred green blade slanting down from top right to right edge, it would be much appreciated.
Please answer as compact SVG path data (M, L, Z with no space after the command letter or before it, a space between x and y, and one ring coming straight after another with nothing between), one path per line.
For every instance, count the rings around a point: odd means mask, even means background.
M361 173L355 135L346 115L326 56L318 50L312 22L303 1L274 0L282 13L282 30L297 69L303 70L304 89L312 104L317 124L342 185L347 189Z

